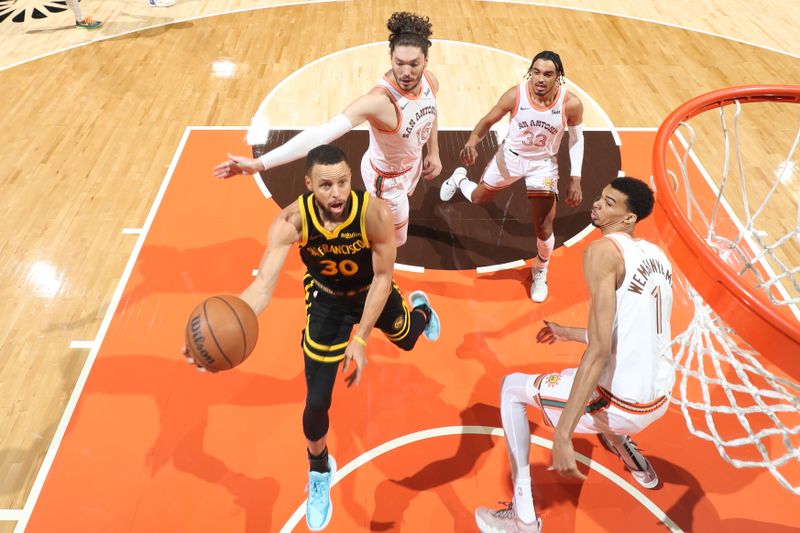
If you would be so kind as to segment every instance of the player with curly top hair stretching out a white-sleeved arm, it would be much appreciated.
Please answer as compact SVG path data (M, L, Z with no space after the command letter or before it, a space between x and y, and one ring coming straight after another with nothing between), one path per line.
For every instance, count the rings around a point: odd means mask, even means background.
M392 68L367 94L327 123L307 129L258 159L228 154L214 168L218 178L254 174L301 157L321 144L338 139L367 122L369 148L361 162L361 177L370 194L389 204L395 243L408 235L408 197L420 175L433 179L442 171L436 120L439 82L425 70L431 42L428 17L393 13L387 22ZM422 149L427 145L424 160Z

